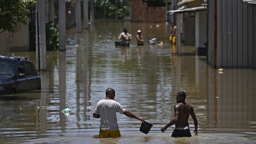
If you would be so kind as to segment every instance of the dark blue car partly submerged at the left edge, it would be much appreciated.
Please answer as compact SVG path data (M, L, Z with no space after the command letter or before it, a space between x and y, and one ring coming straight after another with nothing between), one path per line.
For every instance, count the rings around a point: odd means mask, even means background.
M41 77L24 57L0 55L0 94L41 89Z

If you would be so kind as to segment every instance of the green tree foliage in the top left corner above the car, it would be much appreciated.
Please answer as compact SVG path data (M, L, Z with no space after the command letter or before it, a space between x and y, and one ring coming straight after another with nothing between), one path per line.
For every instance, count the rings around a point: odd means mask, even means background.
M0 33L14 32L19 23L27 25L29 7L34 5L35 0L0 0Z

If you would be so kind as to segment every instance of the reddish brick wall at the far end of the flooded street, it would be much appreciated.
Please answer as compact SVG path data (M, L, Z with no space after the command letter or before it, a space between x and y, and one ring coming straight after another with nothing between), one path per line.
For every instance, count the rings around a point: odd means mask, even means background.
M130 6L132 22L165 22L165 6L151 7L138 0L130 0Z

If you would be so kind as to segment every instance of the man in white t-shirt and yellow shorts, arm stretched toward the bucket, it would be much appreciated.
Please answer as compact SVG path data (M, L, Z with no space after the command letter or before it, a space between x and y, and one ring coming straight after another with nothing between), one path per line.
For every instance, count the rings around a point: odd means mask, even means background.
M115 90L108 88L106 90L106 98L100 100L93 111L93 117L100 118L100 138L121 137L116 118L117 112L130 118L136 118L144 123L142 117L135 116L124 109L120 103L114 101L115 96Z

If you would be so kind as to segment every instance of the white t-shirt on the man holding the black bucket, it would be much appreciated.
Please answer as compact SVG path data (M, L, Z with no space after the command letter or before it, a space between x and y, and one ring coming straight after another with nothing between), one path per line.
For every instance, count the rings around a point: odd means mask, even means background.
M119 130L116 113L123 114L125 109L114 100L100 100L94 109L95 114L100 114L100 129L104 131Z

